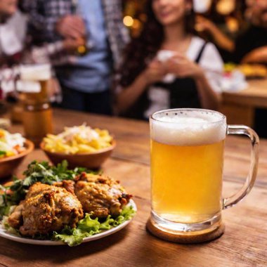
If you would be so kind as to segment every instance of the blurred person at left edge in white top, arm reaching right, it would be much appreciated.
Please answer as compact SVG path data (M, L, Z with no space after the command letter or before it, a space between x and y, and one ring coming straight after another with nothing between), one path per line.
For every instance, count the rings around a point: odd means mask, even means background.
M43 47L27 44L27 15L18 9L18 0L0 0L1 63L48 63L56 53L74 51L82 42L67 39ZM1 64L1 65L2 65Z

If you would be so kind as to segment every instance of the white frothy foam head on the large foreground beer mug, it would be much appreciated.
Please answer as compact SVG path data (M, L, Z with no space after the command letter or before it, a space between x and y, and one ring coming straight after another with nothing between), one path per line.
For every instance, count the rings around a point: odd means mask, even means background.
M211 110L165 110L150 118L153 141L167 145L208 145L226 138L226 117Z

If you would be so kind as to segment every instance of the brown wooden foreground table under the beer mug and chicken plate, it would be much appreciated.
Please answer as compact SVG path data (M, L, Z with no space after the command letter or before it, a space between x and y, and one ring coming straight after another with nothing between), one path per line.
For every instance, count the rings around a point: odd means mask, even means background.
M223 211L226 233L201 245L178 245L145 230L150 215L149 127L146 122L55 110L55 131L87 122L109 129L117 139L106 174L119 179L138 206L133 221L118 233L78 247L23 245L0 237L0 266L267 266L267 141L261 141L259 175L252 192ZM22 131L13 126L12 131ZM228 137L224 195L236 192L249 168L249 141ZM18 169L46 156L34 150Z

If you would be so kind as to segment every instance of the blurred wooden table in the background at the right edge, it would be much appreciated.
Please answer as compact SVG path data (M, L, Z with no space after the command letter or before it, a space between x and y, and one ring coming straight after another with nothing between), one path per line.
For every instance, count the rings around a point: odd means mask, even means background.
M239 92L224 92L221 112L229 124L254 126L256 108L267 109L267 79L248 81L248 88Z

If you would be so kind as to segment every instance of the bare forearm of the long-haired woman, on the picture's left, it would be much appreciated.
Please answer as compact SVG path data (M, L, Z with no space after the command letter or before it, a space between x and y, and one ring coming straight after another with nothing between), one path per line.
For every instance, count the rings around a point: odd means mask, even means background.
M117 94L116 97L116 108L119 113L123 113L131 106L136 103L138 98L142 95L145 89L148 86L148 82L146 81L143 74L140 74L133 84L129 87L123 89Z

